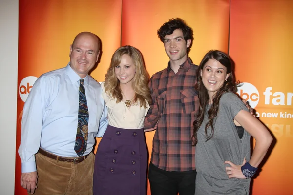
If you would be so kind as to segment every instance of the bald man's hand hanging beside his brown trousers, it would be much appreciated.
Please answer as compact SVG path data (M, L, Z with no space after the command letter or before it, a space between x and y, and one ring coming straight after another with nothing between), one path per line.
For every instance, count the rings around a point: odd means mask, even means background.
M38 174L36 171L21 174L21 186L27 190L27 193L34 194L37 188Z

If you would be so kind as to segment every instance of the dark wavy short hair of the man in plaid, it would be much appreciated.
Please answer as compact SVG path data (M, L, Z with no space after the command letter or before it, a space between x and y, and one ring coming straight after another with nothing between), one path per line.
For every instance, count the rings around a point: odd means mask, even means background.
M157 31L157 34L160 40L164 42L165 36L173 34L174 30L176 29L182 30L185 42L187 42L187 40L189 39L191 40L191 44L189 48L187 48L187 51L189 52L193 41L193 31L188 25L186 25L185 21L181 18L169 19L169 21L165 22L160 27L160 29Z

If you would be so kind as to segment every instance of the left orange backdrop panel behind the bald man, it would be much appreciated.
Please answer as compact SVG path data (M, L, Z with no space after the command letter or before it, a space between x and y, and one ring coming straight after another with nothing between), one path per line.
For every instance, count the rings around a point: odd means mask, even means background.
M69 48L82 31L102 40L101 61L92 72L104 80L107 64L121 42L122 0L19 0L18 85L27 77L62 68L69 62ZM26 82L27 83L27 82ZM16 149L20 145L24 84L18 96ZM20 90L19 90L20 91ZM21 160L16 150L15 195L27 195L20 186Z

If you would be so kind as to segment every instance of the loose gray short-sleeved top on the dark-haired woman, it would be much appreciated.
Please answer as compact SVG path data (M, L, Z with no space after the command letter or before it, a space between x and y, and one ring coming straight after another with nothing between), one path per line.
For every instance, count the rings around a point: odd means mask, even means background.
M207 106L205 117L200 126L197 138L195 152L195 167L198 173L219 180L229 180L226 174L224 161L230 160L236 165L243 162L244 157L250 160L250 134L244 130L242 139L240 140L235 124L234 117L240 110L247 112L245 104L232 92L226 92L222 95L219 102L219 110L217 117L214 119L214 135L206 142L205 126L208 122ZM208 135L211 128L208 128ZM232 178L232 180L238 180ZM245 179L247 180L247 179ZM245 183L248 183L246 181Z

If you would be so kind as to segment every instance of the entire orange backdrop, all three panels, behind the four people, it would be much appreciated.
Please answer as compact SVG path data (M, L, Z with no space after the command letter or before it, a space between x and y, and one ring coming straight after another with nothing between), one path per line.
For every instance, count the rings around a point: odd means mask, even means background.
M170 18L183 18L194 31L189 54L193 62L199 64L210 49L229 52L236 64L237 79L254 86L243 89L243 97L249 94L253 95L249 101L258 99L255 109L259 115L266 114L260 119L276 139L270 158L254 179L253 195L289 195L293 191L293 171L286 166L285 158L293 159L292 152L288 152L293 119L280 118L280 112L293 115L292 104L288 104L293 92L288 82L293 71L288 55L293 43L289 37L293 30L290 8L293 3L289 0L267 0L266 4L262 0L19 0L19 94L23 97L29 92L32 84L24 82L27 77L64 67L69 61L69 46L82 31L93 32L102 40L101 61L91 73L97 81L104 80L111 56L121 45L137 47L152 75L168 62L157 29ZM277 72L275 65L282 68ZM282 94L277 92L284 94L286 105L275 105L282 103ZM24 105L21 96L17 106L17 150ZM279 113L279 117L268 118L269 112ZM153 135L146 133L149 154ZM25 195L20 176L17 153L15 194Z

